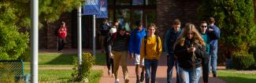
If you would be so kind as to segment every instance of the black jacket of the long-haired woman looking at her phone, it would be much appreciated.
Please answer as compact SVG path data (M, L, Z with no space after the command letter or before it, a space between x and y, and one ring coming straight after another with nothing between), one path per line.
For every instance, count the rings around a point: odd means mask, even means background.
M179 67L184 69L195 69L201 67L202 59L206 58L206 51L204 47L200 47L198 44L193 43L191 39L184 38L184 41L177 40L179 42L175 46L175 56L179 62ZM183 43L183 45L181 44ZM195 58L193 58L193 52L187 52L187 49L191 47L191 44L195 45ZM193 61L195 59L195 62Z

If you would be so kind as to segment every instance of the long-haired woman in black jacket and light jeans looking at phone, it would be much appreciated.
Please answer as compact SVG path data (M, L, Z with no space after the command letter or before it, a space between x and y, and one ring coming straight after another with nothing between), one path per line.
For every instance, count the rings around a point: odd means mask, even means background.
M174 47L180 82L198 83L202 72L202 59L206 58L205 45L195 25L187 23Z

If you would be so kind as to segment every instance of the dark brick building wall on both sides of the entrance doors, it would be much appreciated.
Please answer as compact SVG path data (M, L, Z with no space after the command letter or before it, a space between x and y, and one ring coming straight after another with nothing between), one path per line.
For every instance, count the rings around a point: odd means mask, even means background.
M164 40L165 31L167 31L167 29L172 25L171 20L176 18L180 19L182 27L184 27L184 24L187 22L199 22L196 20L199 1L200 0L157 0L157 34L162 38L162 41ZM50 23L46 29L40 29L39 49L56 49L57 37L54 35L54 28L59 26L61 20L65 20L68 27L68 37L65 48L70 49L72 47L76 47L76 13L72 14L73 13L63 13L60 20ZM84 23L89 22L84 21ZM90 48L92 45L91 41L89 41L91 40L90 30L91 27L87 27L86 30L83 29L83 48Z

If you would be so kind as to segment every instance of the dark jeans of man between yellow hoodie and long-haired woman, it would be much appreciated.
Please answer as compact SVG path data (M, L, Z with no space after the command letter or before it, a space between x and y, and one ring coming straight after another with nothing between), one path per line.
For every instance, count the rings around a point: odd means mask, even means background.
M177 60L174 58L174 55L167 56L167 83L171 83L173 77L173 66L176 67L176 83L180 83L179 73L177 68Z

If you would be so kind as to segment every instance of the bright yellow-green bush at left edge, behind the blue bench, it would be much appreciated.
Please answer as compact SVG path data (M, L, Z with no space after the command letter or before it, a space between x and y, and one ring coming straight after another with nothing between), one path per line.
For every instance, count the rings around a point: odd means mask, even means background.
M17 60L28 48L28 33L20 33L16 26L0 20L0 60Z

